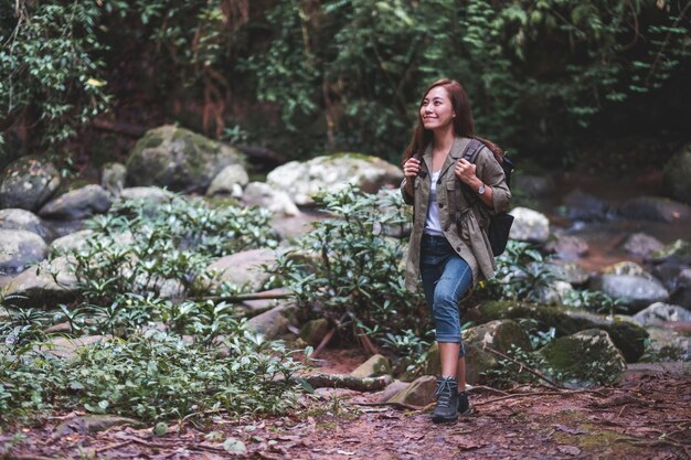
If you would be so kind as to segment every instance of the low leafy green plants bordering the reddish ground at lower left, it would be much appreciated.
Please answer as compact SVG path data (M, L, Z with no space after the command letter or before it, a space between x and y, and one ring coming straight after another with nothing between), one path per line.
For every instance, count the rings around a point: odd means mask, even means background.
M283 345L238 332L221 355L155 330L79 347L73 360L38 343L0 349L0 413L85 408L148 421L294 407L301 365Z

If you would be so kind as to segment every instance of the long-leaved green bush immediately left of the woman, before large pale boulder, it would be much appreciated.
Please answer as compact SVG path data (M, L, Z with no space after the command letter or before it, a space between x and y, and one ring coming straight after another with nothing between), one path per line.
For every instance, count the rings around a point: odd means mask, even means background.
M404 330L422 336L428 320L421 295L404 286L405 243L389 236L410 220L401 194L349 186L320 203L330 217L316 222L299 249L280 257L274 269L302 314L330 318L351 340L362 332L379 340Z

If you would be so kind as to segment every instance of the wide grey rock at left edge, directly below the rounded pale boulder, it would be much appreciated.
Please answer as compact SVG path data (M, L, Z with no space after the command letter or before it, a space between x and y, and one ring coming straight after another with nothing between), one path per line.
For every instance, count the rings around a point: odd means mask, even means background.
M53 270L56 276L51 275ZM14 303L33 308L57 308L60 303L74 300L77 279L70 269L67 259L56 257L52 261L43 260L38 267L31 267L15 276L2 290L3 296L20 296Z

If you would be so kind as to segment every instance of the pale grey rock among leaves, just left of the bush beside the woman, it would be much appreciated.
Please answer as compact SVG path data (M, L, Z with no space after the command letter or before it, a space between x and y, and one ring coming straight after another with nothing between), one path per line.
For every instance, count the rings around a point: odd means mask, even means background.
M253 292L257 292L270 277L262 269L262 265L274 263L276 254L272 249L251 249L222 257L206 267L206 270L217 275L212 281L213 286L230 282L235 286L248 286Z

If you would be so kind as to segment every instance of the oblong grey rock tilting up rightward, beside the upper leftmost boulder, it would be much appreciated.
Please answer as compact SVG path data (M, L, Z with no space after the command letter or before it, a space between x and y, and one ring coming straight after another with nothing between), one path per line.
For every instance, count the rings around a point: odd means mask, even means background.
M76 221L110 208L113 201L100 185L86 185L47 202L39 215L46 218Z

